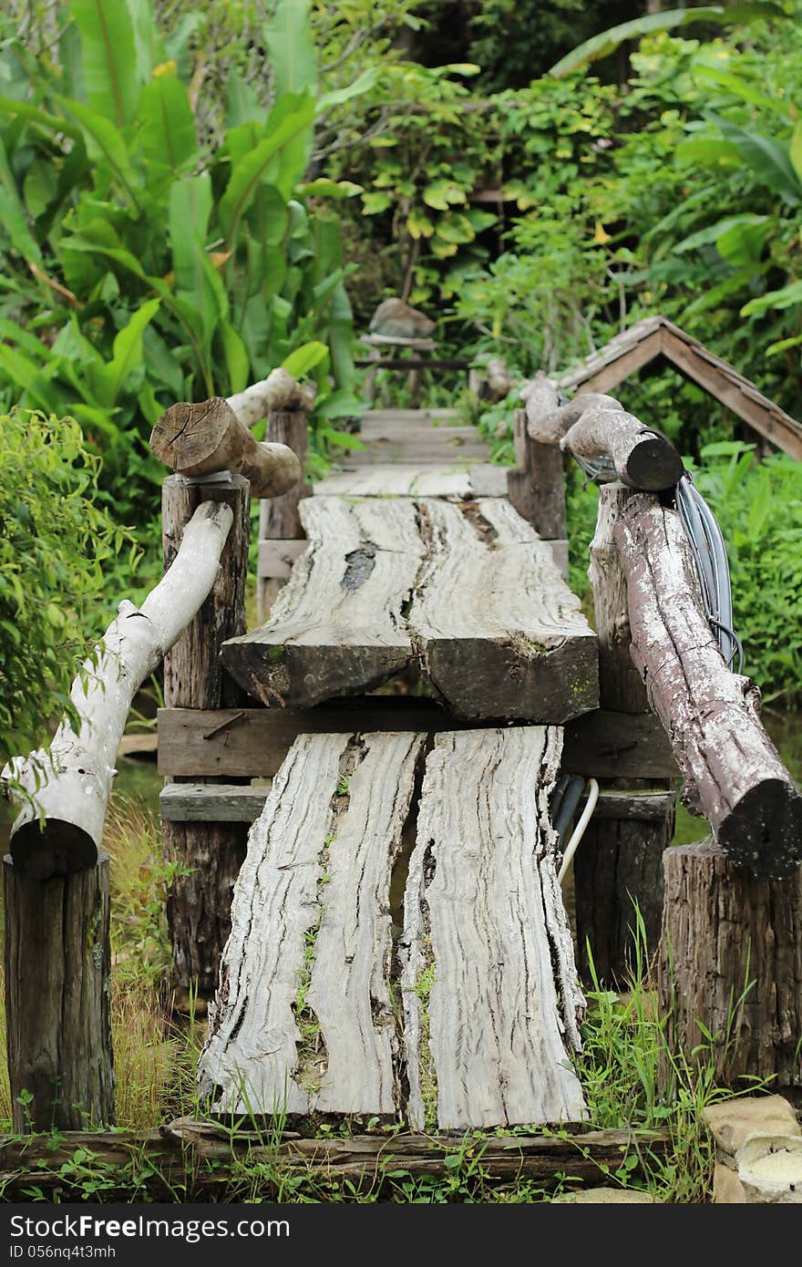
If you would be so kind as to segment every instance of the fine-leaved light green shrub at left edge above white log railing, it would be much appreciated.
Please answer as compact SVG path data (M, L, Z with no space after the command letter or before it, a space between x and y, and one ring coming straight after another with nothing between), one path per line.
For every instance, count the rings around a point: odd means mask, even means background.
M96 627L101 565L130 544L98 504L99 460L71 418L0 417L0 763L75 718L70 685Z

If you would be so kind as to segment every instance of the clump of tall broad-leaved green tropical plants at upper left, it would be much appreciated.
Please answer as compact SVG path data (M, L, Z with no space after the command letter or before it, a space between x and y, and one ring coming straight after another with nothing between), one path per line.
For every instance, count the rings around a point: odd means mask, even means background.
M54 61L4 19L0 393L70 409L103 452L117 513L141 518L161 475L147 435L176 399L241 390L314 343L318 442L324 419L357 408L348 269L327 208L342 190L302 189L324 108L313 61L281 52L303 6L279 5L271 28L286 90L270 110L232 94L214 150L151 0L58 8Z

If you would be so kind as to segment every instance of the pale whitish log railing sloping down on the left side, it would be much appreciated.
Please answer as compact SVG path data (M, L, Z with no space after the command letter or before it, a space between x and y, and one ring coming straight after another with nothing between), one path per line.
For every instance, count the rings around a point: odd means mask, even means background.
M25 789L10 850L22 872L47 879L94 867L103 841L115 759L134 694L193 620L214 584L232 525L227 506L199 507L166 576L141 608L123 599L118 616L71 691L79 731L62 722L49 756L16 758L6 775ZM43 816L43 824L41 824Z

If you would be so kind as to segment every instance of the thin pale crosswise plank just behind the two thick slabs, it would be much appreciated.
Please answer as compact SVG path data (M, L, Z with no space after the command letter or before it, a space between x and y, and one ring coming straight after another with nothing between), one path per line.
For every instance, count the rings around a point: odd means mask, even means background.
M466 462L461 456L426 465L419 461L357 466L348 460L342 470L314 485L317 497L504 497L507 471L488 462Z

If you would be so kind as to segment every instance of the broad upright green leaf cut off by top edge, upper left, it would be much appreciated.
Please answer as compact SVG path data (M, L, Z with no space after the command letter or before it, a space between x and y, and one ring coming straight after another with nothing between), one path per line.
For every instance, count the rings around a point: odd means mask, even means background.
M89 104L118 128L130 123L139 99L134 28L125 0L71 0L81 32Z

